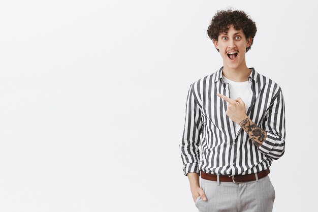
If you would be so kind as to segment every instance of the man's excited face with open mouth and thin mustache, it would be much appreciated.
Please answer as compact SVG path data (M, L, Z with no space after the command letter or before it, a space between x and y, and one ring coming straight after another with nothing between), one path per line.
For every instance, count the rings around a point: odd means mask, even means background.
M246 68L245 51L250 46L251 40L245 38L242 29L236 30L231 25L228 33L220 34L218 40L213 41L222 56L224 68L232 70Z

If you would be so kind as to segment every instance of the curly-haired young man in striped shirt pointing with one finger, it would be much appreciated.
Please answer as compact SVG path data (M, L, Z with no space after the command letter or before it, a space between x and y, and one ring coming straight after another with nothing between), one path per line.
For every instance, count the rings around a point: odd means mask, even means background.
M223 67L188 91L181 158L202 212L273 208L268 174L284 154L284 100L275 82L246 66L256 32L243 11L218 11L207 33Z

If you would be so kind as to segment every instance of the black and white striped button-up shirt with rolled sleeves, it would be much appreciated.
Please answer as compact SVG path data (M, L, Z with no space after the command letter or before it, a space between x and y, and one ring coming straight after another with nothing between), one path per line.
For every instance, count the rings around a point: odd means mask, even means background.
M223 67L222 67L223 68ZM252 141L226 115L231 98L229 84L222 79L222 68L190 85L180 144L183 172L237 175L268 169L273 159L284 154L285 118L281 88L254 68L248 77L252 99L247 116L267 132L262 145Z

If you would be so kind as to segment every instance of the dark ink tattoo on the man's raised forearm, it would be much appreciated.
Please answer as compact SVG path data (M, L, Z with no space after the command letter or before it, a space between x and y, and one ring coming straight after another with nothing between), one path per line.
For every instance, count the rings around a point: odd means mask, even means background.
M253 141L257 142L263 142L265 140L265 130L262 130L259 126L257 126L255 123L252 123L249 118L245 118L240 122L240 126L245 130L245 132L248 134L249 138Z

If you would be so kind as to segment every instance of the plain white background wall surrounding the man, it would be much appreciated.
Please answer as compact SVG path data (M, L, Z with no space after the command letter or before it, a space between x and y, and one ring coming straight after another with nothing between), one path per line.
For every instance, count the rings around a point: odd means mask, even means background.
M317 8L306 1L1 1L0 211L197 211L179 143L187 89L217 71L217 10L258 32L247 66L285 98L274 211L314 211Z

